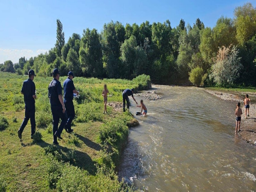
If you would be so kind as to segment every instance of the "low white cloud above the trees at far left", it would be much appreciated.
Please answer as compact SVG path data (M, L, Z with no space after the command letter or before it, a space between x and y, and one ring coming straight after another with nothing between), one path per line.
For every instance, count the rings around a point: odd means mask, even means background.
M38 49L36 51L30 49L1 49L0 48L0 63L4 63L6 60L12 60L13 63L18 63L21 57L29 59L35 57L40 53L45 53L48 50Z

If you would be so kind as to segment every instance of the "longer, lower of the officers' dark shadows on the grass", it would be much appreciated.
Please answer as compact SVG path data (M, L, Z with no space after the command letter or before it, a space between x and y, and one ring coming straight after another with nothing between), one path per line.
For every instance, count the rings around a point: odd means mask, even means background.
M48 146L51 146L52 144L46 143L44 140L38 141L36 145L39 145L42 148L46 148ZM69 162L71 165L77 166L83 170L88 171L89 174L91 175L96 175L97 168L95 166L95 161L92 160L92 158L78 150L73 150L74 151L74 161L70 161L70 158L68 158L67 154L70 152L72 149L69 149L67 147L62 147L61 145L56 146L56 150L58 153L63 157L64 162Z

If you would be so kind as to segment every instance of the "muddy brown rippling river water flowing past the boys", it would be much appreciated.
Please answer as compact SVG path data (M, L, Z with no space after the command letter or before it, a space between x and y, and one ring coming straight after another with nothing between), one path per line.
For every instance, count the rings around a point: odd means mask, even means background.
M236 104L194 87L154 88L165 97L135 116L119 178L148 191L256 190L256 148L234 133Z

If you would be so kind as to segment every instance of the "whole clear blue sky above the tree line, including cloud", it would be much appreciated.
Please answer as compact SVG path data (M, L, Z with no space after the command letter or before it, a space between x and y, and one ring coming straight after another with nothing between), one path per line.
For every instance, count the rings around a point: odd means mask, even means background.
M180 19L193 25L200 18L213 27L221 16L233 17L236 6L244 0L0 0L0 63L18 62L45 52L56 42L56 19L63 24L65 41L72 33L83 34L85 28L99 32L111 20L126 23L164 22L171 26ZM251 0L256 6L256 0Z

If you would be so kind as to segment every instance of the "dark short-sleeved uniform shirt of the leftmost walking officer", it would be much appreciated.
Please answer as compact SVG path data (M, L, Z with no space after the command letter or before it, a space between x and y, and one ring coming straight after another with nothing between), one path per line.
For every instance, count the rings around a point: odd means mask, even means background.
M28 79L23 82L21 92L24 95L25 103L35 103L33 95L36 94L36 85L31 79Z

